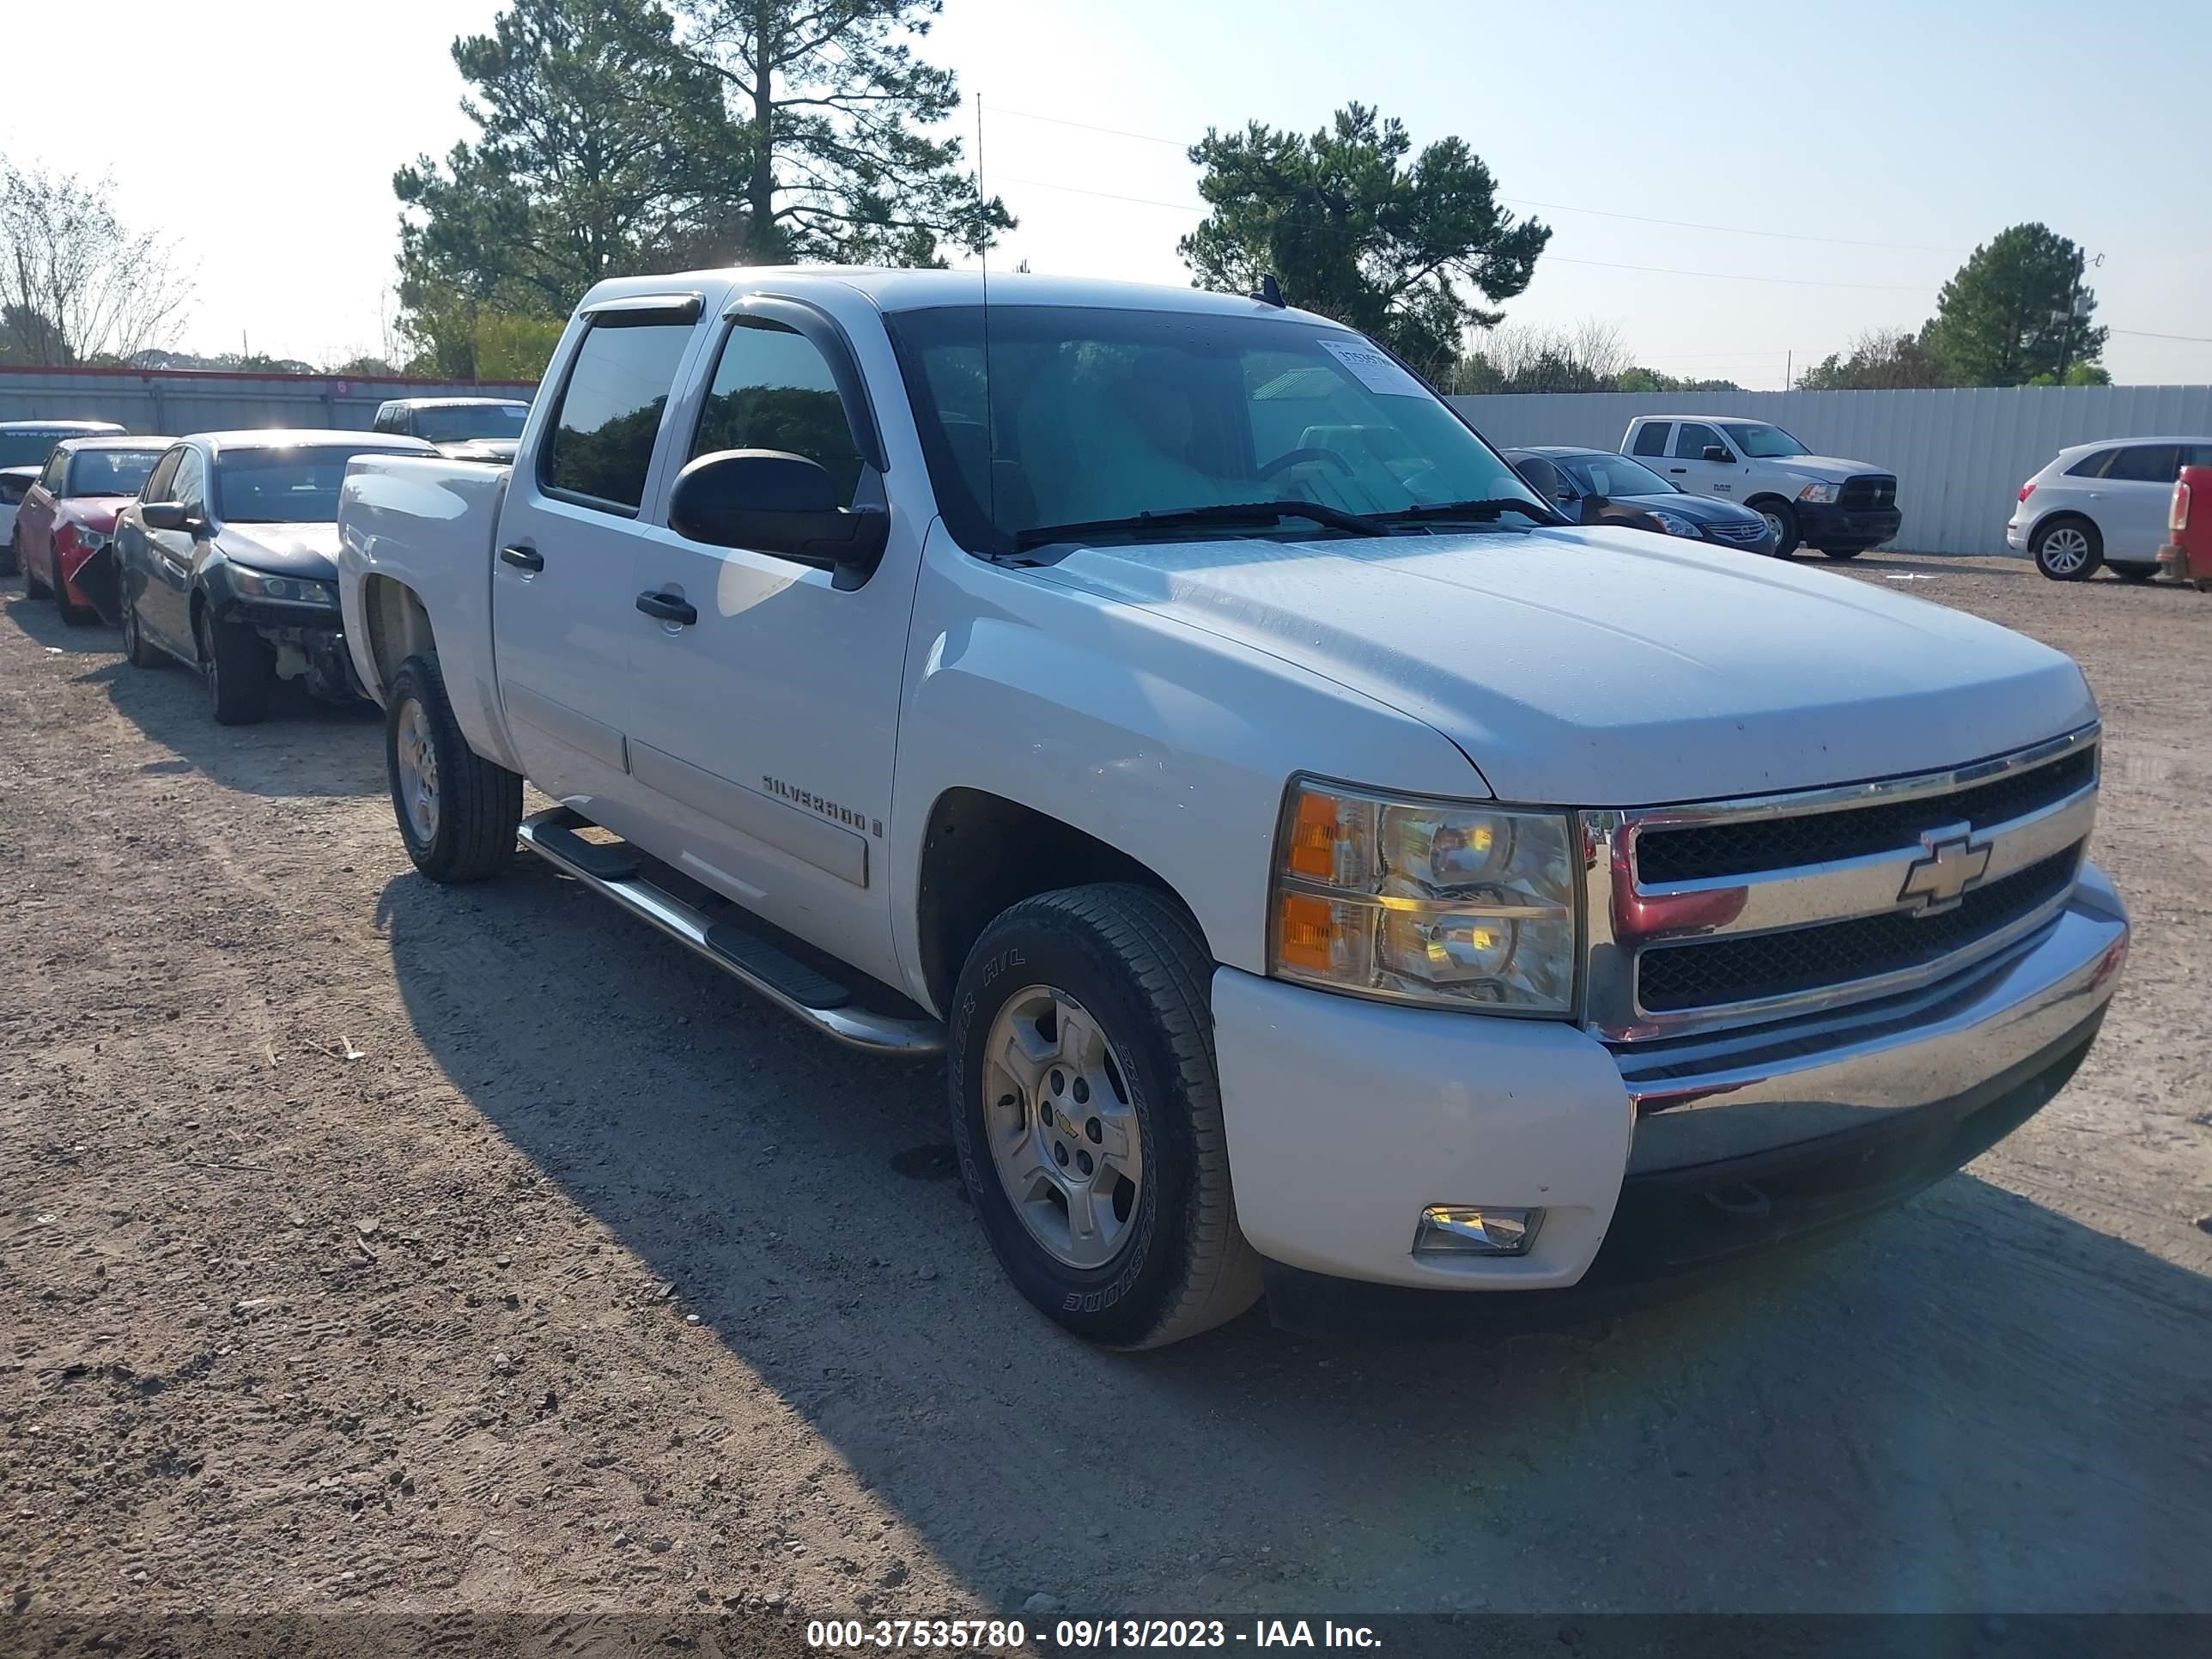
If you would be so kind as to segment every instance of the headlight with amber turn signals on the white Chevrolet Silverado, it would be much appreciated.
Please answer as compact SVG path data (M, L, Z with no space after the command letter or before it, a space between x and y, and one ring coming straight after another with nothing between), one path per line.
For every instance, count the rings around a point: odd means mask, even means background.
M1267 971L1451 1009L1564 1015L1575 995L1573 821L1296 781Z

